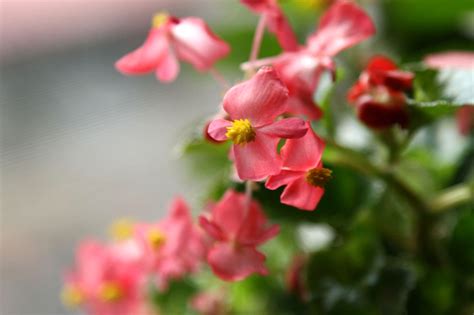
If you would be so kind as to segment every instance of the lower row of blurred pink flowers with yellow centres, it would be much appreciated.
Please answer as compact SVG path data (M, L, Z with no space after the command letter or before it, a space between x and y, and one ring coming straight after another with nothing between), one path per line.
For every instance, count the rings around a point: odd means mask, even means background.
M201 229L176 198L156 223L121 220L111 229L113 242L82 242L65 277L63 302L94 315L151 315L149 282L165 291L170 281L199 272L204 261L227 281L265 275L265 255L256 247L279 231L266 222L256 201L230 190L200 217ZM195 301L199 307L202 299Z

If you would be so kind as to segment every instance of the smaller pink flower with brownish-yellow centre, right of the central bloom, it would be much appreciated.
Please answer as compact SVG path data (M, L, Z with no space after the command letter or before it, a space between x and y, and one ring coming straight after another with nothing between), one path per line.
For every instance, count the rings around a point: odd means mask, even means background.
M268 189L286 186L280 201L303 210L314 210L324 194L331 171L323 168L324 142L311 129L299 139L290 139L281 149L283 167L265 183Z

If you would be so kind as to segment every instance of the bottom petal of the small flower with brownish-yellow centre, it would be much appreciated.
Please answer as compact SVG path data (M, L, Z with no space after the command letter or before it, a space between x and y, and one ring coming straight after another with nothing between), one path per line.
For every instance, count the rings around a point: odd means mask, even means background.
M323 194L324 189L311 186L302 177L286 186L280 196L280 201L289 206L312 211L318 205Z

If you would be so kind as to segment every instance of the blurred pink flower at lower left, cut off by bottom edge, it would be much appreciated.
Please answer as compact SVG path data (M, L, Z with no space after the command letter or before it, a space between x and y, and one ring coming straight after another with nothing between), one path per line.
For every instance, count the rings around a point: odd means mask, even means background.
M109 247L83 242L76 266L66 277L62 293L68 306L81 306L95 315L140 315L144 309L144 273Z

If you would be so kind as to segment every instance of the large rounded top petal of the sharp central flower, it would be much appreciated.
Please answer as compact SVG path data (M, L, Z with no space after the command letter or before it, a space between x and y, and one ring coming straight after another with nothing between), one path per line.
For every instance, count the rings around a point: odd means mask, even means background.
M254 127L266 125L285 112L288 90L270 67L232 87L224 96L223 106L230 118L249 119Z

